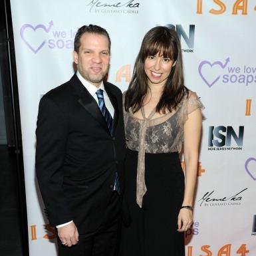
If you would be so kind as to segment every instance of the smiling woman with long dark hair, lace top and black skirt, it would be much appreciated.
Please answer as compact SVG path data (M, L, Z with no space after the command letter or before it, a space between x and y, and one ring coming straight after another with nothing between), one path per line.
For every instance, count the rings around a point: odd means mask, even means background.
M192 224L202 104L184 86L175 31L146 33L124 93L127 158L122 256L184 256ZM179 159L184 147L186 184Z

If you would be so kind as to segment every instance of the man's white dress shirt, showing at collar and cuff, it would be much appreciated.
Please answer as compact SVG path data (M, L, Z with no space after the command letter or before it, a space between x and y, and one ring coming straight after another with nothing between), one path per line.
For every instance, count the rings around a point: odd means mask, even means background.
M112 106L110 99L108 98L108 94L106 93L106 90L104 88L104 84L103 82L101 82L100 87L97 88L95 85L91 84L90 82L88 82L87 80L85 80L81 74L79 73L79 71L77 70L76 72L76 76L78 77L78 79L80 80L80 82L82 82L82 84L84 85L84 87L88 90L88 92L90 93L90 95L92 95L92 97L94 98L94 100L96 100L97 104L98 104L98 97L96 95L96 91L98 89L102 89L103 90L103 97L104 97L104 102L106 105L106 108L108 108L108 111L110 112L112 118L114 118L114 107ZM68 221L66 223L63 223L61 225L57 225L56 227L64 227L65 225L68 225L70 223L72 223L73 221Z

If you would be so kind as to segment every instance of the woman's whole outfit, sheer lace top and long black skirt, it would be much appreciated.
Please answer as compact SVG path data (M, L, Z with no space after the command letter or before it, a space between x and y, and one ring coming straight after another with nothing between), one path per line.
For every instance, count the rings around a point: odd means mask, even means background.
M203 108L190 91L176 111L142 119L124 111L127 156L120 256L185 256L178 213L184 199L179 152L188 114ZM128 215L128 216L127 216Z

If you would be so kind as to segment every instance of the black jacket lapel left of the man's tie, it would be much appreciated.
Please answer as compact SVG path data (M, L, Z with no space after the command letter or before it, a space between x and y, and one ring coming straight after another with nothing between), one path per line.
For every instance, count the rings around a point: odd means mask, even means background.
M80 98L78 98L79 104L81 104L82 107L90 115L92 115L97 122L100 123L102 128L104 128L104 130L106 130L106 132L110 134L108 130L108 126L106 124L106 120L104 119L104 116L102 116L102 112L100 111L100 108L98 107L96 100L94 100L92 95L90 95L88 90L86 90L86 88L83 86L82 82L80 82L76 74L72 76L70 81L74 85L74 88L76 89L76 93L78 93L78 96L80 96Z

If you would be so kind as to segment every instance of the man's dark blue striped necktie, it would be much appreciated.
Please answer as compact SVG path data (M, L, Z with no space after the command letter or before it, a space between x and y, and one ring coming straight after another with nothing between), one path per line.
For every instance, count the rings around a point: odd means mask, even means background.
M102 112L102 115L104 116L104 118L106 120L108 130L110 131L110 134L113 135L113 118L112 118L110 112L108 111L108 108L106 108L106 105L104 102L103 90L98 89L96 91L96 95L98 98L98 106L100 107L100 111ZM119 178L118 178L117 172L116 172L115 178L114 178L114 190L116 190L118 193L120 193Z

